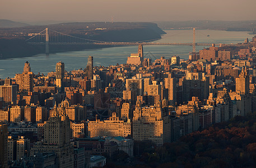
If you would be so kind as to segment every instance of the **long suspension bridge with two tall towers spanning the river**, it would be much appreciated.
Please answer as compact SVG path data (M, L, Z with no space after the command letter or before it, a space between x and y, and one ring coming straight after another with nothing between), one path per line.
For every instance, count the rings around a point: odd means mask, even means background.
M131 42L112 42L99 41L79 38L76 36L64 34L62 32L50 30L48 28L43 31L31 34L31 38L26 40L27 44L31 45L45 45L45 53L49 54L49 45L190 45L193 46L193 52L196 52L196 45L211 46L207 43L196 43L196 29L193 29L193 43L156 43L150 42L159 39L145 40L145 41L131 41ZM219 44L216 44L219 45Z

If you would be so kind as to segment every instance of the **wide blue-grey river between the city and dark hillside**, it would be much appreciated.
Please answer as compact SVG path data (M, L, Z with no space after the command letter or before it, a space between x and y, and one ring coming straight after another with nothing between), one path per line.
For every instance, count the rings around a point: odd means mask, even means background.
M154 42L164 43L192 43L192 30L165 30L166 34L162 39ZM207 36L209 35L209 36ZM220 30L197 30L196 43L242 43L245 38L252 39L252 35L244 31L220 31ZM87 57L94 57L94 66L109 66L117 63L125 63L131 53L137 53L138 46L115 46L111 48L82 50L77 52L63 52L50 55L37 54L32 57L20 57L0 60L0 78L15 77L16 73L22 73L24 63L30 63L31 71L34 73L48 73L55 71L55 64L62 61L67 71L85 68ZM203 49L203 46L196 46L196 50ZM143 46L145 58L170 58L178 55L181 59L188 59L192 46L176 45L145 45ZM22 56L22 55L21 55Z

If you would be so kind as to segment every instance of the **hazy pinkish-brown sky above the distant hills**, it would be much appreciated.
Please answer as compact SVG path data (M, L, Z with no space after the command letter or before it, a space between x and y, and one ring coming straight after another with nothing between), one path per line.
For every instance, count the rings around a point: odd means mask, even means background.
M256 0L0 0L13 21L256 20Z

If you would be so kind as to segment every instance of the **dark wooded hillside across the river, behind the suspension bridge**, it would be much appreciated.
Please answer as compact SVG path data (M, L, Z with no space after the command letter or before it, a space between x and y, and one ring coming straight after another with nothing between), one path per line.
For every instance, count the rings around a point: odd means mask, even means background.
M157 24L150 22L70 22L44 26L0 28L0 58L26 57L44 53L44 45L28 45L29 34L38 33L46 27L50 30L100 41L144 41L161 38L165 34ZM53 45L50 52L103 48L97 45Z

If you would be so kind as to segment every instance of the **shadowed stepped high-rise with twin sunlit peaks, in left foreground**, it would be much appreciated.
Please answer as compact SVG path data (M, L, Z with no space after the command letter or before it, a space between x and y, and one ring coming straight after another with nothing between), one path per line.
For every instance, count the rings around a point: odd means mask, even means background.
M58 157L59 167L74 167L70 123L64 105L62 104L60 111L55 105L53 116L44 124L44 141L34 144L31 148L31 156L37 152L54 152Z

